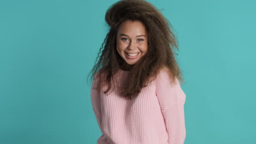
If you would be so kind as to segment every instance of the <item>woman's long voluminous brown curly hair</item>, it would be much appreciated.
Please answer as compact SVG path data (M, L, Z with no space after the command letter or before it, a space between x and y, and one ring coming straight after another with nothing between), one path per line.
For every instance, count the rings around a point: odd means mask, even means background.
M121 95L125 98L136 96L150 80L154 80L162 68L167 68L170 80L177 77L184 82L182 70L176 62L174 50L178 50L176 36L171 31L171 23L153 4L144 0L122 0L109 7L105 21L109 31L104 39L95 65L90 71L91 79L99 76L98 88L107 83L108 93L114 86L114 75L123 64L123 59L117 52L116 34L120 24L126 20L141 21L148 33L148 52L133 65ZM103 50L102 50L103 49ZM100 55L101 54L101 55ZM100 57L100 59L98 59ZM153 78L153 79L150 79ZM90 80L91 80L90 79Z

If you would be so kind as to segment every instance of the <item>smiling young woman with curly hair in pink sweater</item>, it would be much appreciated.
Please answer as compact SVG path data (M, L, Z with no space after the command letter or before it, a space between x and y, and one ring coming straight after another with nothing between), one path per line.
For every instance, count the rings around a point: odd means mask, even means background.
M186 96L170 22L143 0L114 3L105 20L109 32L90 73L97 143L184 143Z

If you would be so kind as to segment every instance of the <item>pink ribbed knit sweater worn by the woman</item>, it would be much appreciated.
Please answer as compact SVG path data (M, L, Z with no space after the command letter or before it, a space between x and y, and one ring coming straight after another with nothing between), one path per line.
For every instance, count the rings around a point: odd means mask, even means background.
M102 135L97 144L181 144L185 141L185 93L176 78L171 85L163 69L138 97L129 100L118 95L130 71L119 69L117 85L109 95L91 87L91 103Z

